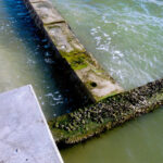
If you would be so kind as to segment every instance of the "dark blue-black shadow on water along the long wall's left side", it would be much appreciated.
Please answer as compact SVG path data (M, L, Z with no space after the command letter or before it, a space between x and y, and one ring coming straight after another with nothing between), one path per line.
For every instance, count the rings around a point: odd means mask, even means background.
M77 101L75 95L67 85L66 78L62 74L57 61L53 60L54 51L48 45L47 39L40 35L34 25L30 15L24 5L23 0L3 0L8 20L17 38L23 40L25 47L32 52L37 62L45 62L50 70L48 73L54 82L57 89L63 96L64 102L60 104L58 115L62 115L83 105L84 101ZM37 53L37 54L35 54ZM42 65L43 66L43 65ZM42 73L47 73L46 71ZM48 84L48 82L46 83ZM41 89L41 88L40 88Z

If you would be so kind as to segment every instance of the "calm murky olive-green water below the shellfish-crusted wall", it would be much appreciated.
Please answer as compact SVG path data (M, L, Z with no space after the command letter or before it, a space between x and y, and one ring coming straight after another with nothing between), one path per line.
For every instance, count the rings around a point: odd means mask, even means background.
M162 163L162 124L161 109L61 154L65 163Z

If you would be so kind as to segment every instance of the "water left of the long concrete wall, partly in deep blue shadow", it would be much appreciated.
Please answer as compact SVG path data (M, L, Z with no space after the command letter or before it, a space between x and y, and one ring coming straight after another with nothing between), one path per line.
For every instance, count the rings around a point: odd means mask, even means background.
M0 0L0 92L32 84L47 118L75 103L50 55L23 1Z

